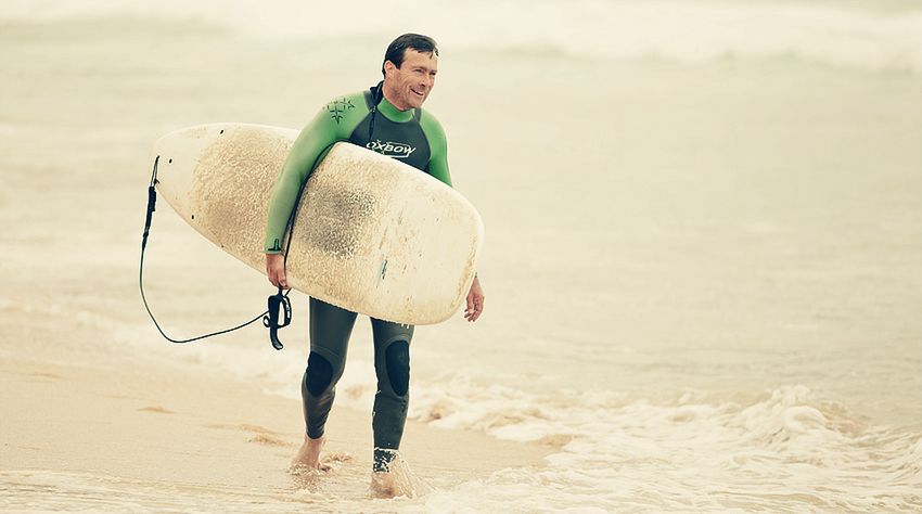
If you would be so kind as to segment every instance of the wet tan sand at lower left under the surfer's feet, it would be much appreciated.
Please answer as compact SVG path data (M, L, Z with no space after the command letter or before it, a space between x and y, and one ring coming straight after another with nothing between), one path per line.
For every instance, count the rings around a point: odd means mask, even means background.
M116 364L118 356L110 355L104 364L87 367L41 351L28 360L7 358L11 340L30 336L4 337L4 511L259 511L264 498L274 501L267 510L347 512L369 498L370 412L336 408L324 457L332 470L292 475L287 464L303 437L293 415L299 401L260 394L256 384L201 365L141 367L126 357ZM420 491L510 466L541 466L552 449L418 422L408 424L406 437L406 470ZM39 492L42 486L48 494ZM119 500L86 496L97 487ZM145 496L148 488L177 498ZM372 509L389 509L388 500L377 501Z

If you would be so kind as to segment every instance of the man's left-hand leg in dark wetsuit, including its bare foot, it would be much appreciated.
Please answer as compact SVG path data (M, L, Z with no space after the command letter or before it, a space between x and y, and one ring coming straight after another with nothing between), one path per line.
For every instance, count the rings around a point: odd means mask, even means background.
M310 298L310 356L300 385L306 434L292 467L319 467L326 417L343 375L356 313Z

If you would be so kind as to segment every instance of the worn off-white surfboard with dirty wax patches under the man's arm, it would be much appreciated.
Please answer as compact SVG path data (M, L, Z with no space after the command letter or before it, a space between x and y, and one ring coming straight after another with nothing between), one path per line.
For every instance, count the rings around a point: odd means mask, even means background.
M170 132L154 145L157 192L202 235L265 274L269 198L297 134L245 124ZM307 181L286 279L354 312L438 323L464 304L483 237L477 210L460 193L399 160L341 142Z

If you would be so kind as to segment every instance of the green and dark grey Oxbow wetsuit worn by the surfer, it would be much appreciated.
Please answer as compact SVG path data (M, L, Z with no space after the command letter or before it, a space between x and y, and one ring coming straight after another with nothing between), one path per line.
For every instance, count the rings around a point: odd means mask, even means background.
M451 185L448 149L438 120L422 108L399 111L382 98L380 87L331 101L295 140L272 190L264 248L267 254L282 252L298 192L320 157L337 141L400 159ZM310 356L302 382L310 438L323 435L355 321L355 312L310 298ZM372 414L374 468L386 471L394 450L400 446L407 421L413 326L372 318L371 327L377 374Z

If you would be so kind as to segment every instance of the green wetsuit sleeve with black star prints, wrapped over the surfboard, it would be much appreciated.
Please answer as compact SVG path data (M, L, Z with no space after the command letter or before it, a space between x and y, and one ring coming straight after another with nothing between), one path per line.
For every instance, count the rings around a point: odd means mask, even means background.
M272 189L264 252L282 252L289 218L313 167L330 145L348 140L349 134L368 113L362 92L338 97L324 105L300 131Z

